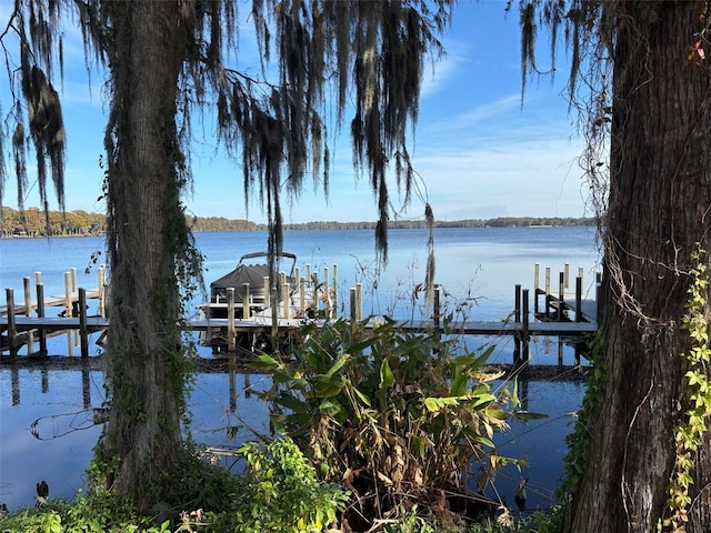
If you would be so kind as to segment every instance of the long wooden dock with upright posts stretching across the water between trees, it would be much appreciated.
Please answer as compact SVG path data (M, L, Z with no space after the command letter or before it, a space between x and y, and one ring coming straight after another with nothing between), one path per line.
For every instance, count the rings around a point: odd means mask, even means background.
M336 272L336 266L333 270ZM27 344L28 353L34 353L33 343L39 341L39 353L47 353L46 340L48 336L73 332L79 336L81 355L88 356L89 335L110 328L110 320L104 313L108 288L102 283L103 276L103 269L100 269L99 289L84 290L72 285L70 271L64 275L64 295L44 298L41 274L37 273L37 299L30 298L30 281L29 278L26 278L23 303L16 303L12 289L6 289L7 303L0 306L2 352L7 351L10 352L10 355L17 355L20 348ZM461 321L450 323L448 326L453 333L461 335L513 336L514 363L530 359L529 346L533 336L557 336L562 340L572 340L578 361L579 346L582 346L584 341L594 335L598 330L597 302L582 298L582 272L575 280L573 294L565 291L567 276L567 270L560 273L558 291L553 293L550 288L549 269L547 269L545 286L539 286L539 265L537 264L533 310L530 309L530 291L522 289L521 285L515 285L514 311L510 320L499 322ZM321 283L319 289L300 284L291 291L287 285L282 290L286 294L291 294L291 298L286 303L280 303L283 308L278 310L276 316L272 315L271 308L268 308L261 312L247 313L247 318L236 318L234 312L229 313L229 309L234 310L237 306L234 301L232 301L232 305L230 302L207 303L201 308L224 306L228 309L228 316L224 319L193 318L186 322L186 329L200 332L201 338L208 343L217 332L218 335L226 339L228 351L236 350L234 340L239 334L266 334L273 338L298 333L308 322L323 323L327 320L336 319L336 305L333 304L336 286L336 282L330 288L328 283ZM599 280L597 280L597 286L599 286ZM432 320L399 321L397 328L408 332L442 331L439 294L440 291L435 291ZM87 302L90 300L98 302L98 314L88 315ZM350 300L349 320L362 321L360 285L350 290ZM306 310L309 306L311 313L307 314ZM48 309L61 309L61 312L48 316ZM533 318L532 321L531 318ZM370 321L365 326L374 326L374 321Z

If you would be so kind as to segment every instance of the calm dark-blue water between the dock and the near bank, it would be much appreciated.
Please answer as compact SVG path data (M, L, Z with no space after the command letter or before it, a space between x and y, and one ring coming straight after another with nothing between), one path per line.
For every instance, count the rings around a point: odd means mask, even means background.
M497 477L497 489L509 503L518 481L529 479L528 509L552 503L571 413L584 392L574 368L543 369L521 378L519 392L528 410L549 418L514 423L495 439L501 454L529 462L523 472L507 469ZM269 408L253 391L270 386L268 375L243 373L227 360L202 360L190 400L194 441L229 449L269 435ZM101 433L103 400L100 358L52 356L44 362L18 358L1 364L0 502L11 511L33 505L34 484L41 480L49 483L50 497L71 499L86 490L83 472Z

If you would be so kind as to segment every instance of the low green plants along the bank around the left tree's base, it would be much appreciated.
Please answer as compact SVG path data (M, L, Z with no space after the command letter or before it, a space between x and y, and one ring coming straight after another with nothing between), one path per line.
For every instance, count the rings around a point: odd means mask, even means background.
M167 516L158 520L136 514L129 500L117 500L101 484L71 503L54 499L42 507L0 517L0 533L316 533L336 522L349 500L340 486L319 483L289 439L247 443L240 453L247 463L243 477L193 455L164 492ZM186 507L196 511L177 511Z

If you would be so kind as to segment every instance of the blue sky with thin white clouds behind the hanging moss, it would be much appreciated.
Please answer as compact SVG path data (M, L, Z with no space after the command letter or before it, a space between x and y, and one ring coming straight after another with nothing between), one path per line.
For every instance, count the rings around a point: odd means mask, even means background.
M439 220L590 215L577 162L582 141L574 135L574 118L569 115L563 95L567 58L559 57L554 83L548 79L529 83L521 108L518 12L514 8L507 18L504 7L503 1L461 0L443 37L447 57L428 69L410 150L423 190ZM246 9L241 17L249 24ZM246 28L243 34L251 27ZM89 92L83 51L72 31L68 29L61 88L68 137L67 209L103 212L104 205L98 201L106 122L103 80L94 73ZM548 42L544 34L540 38L539 64L547 64ZM250 57L256 57L250 47L242 47L240 63ZM194 190L186 197L187 207L199 217L247 218L240 169L216 154L210 125L202 128L194 121L193 128L200 138L192 157ZM354 179L348 127L343 130L332 147L329 201L309 183L287 208L287 222L375 219L367 178L360 182ZM16 195L10 178L4 204L14 207ZM39 205L38 197L33 187L26 205ZM398 198L393 199L397 204ZM53 193L50 207L57 207ZM423 203L415 197L400 215L420 219L422 213ZM264 221L259 204L250 204L249 219Z

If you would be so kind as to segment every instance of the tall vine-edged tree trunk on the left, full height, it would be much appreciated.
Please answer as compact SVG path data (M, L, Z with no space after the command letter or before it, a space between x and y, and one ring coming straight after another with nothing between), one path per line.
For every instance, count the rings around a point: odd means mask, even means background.
M107 130L111 266L107 350L108 480L141 510L181 467L180 204L177 91L183 46L173 1L108 2L113 9L112 105Z

